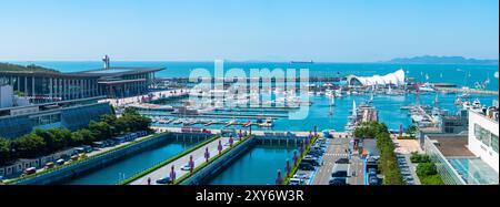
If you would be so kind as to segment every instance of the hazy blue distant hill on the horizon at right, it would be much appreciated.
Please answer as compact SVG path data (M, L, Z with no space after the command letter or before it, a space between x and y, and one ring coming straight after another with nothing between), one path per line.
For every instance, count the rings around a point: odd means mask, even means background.
M498 64L498 60L466 59L463 56L414 56L392 59L387 63L400 64Z

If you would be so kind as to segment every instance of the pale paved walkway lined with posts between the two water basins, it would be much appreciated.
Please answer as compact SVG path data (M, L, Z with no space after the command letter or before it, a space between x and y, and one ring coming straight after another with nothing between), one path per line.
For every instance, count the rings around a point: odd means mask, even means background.
M151 178L151 185L156 185L157 179L169 177L172 165L174 166L176 178L180 178L183 175L186 175L187 173L189 173L189 170L182 170L181 167L189 163L189 157L191 155L193 157L194 168L196 168L197 166L206 163L204 152L206 152L207 147L209 147L210 157L213 157L219 153L219 151L217 149L217 147L219 145L219 141L222 142L223 149L229 147L229 146L226 146L226 143L229 142L229 137L220 137L211 143L207 144L206 146L200 147L200 148L196 149L194 152L187 154L186 156L180 157L180 158L173 161L172 163L132 182L130 185L148 185L148 178ZM234 141L234 144L238 142L239 141Z

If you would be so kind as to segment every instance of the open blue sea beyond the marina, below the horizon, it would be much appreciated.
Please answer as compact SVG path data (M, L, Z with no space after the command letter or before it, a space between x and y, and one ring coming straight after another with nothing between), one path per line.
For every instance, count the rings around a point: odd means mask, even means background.
M18 64L38 64L62 72L77 72L102 68L102 62L13 62ZM159 72L160 77L189 76L194 69L207 69L213 74L213 62L112 62L112 66L167 68ZM463 65L463 64L387 64L387 63L313 63L291 64L272 62L226 62L224 70L242 69L309 69L310 76L346 76L387 74L399 69L407 71L407 76L422 82L447 82L459 86L474 87L476 82L490 80L487 90L498 91L499 81L494 73L499 65ZM427 76L429 79L427 79Z

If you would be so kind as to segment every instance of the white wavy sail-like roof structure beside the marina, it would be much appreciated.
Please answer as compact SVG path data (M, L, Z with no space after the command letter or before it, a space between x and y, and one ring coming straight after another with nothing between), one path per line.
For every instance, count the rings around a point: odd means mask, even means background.
M350 86L371 86L371 85L404 85L404 71L401 69L387 75L373 75L369 77L349 75L347 77Z

